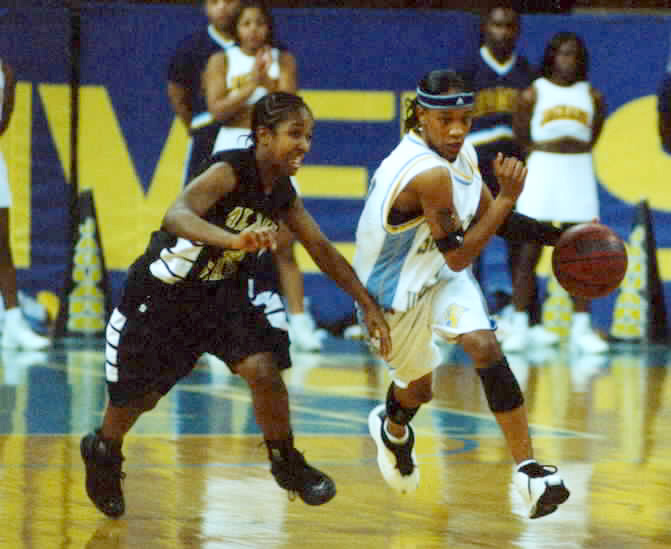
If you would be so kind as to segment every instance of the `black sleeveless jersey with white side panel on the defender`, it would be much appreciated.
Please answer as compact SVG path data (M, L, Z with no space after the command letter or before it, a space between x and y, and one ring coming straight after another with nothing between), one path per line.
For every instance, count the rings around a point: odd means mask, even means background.
M289 177L281 178L267 195L253 148L222 151L210 159L210 165L217 162L232 166L237 184L210 208L205 219L236 234L250 227L277 228L296 198ZM170 292L170 288L175 292L180 288L212 288L222 282L246 286L247 279L254 278L260 268L258 256L269 253L222 249L159 230L152 234L146 251L132 265L128 285L141 294L152 288L164 292Z

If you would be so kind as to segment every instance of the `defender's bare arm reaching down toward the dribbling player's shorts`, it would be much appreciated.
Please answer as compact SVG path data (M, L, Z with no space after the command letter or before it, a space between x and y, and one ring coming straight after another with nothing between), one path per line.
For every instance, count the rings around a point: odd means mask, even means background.
M286 222L319 269L359 304L368 333L379 341L380 354L388 356L391 352L391 336L382 309L361 284L352 266L324 236L317 222L303 207L300 197L296 197L289 209Z

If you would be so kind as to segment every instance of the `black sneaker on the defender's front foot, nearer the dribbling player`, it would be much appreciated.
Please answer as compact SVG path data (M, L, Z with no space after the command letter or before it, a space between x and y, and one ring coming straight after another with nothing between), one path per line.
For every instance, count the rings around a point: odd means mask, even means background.
M273 452L270 472L277 484L291 493L298 494L308 505L322 505L335 496L335 483L321 471L311 467L303 454L295 448L286 456Z

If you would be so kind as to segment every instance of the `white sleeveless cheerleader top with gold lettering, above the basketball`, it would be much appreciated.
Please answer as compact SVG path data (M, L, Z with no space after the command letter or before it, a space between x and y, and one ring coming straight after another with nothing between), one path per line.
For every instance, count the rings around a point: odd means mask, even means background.
M533 86L536 90L530 125L533 142L566 137L586 143L591 141L594 100L588 82L558 86L546 78L539 78Z

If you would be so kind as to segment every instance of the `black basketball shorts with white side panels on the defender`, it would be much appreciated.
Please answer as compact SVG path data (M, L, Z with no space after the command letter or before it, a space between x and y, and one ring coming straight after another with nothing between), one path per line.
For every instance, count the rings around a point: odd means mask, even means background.
M150 392L166 394L203 353L235 373L245 358L273 353L278 368L291 366L286 314L277 293L240 290L190 296L122 299L105 332L105 378L115 406Z

